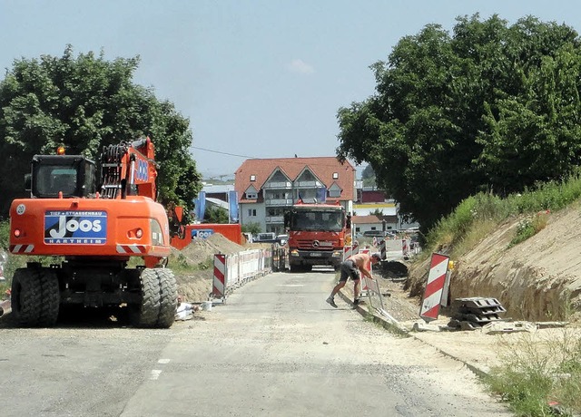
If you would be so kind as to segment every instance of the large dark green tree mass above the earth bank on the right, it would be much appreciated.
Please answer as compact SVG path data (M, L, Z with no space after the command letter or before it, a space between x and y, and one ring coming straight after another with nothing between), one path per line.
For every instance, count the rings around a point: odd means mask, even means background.
M337 153L369 162L422 228L478 191L563 179L581 159L579 46L533 16L428 24L371 66L374 95L339 110Z

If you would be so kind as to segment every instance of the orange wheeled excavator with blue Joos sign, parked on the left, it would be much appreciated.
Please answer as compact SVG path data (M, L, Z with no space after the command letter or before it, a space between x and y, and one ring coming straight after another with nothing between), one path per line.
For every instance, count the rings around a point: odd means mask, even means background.
M105 146L100 162L97 178L93 160L62 147L32 160L30 198L10 208L10 252L59 263L27 262L15 271L11 304L20 325L55 325L64 305L123 305L135 326L173 324L177 283L166 265L171 234L180 232L170 218L181 220L182 210L168 218L156 201L153 142ZM132 257L143 265L128 267Z

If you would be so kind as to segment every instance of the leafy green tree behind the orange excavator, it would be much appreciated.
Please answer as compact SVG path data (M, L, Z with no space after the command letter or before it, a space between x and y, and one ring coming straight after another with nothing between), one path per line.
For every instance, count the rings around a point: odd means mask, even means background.
M189 153L189 121L171 102L132 82L139 57L105 61L103 51L74 57L68 45L62 57L16 60L0 82L0 216L10 202L25 197L24 176L34 154L68 154L99 160L103 146L149 135L159 164L158 190L163 204L192 208L202 187Z

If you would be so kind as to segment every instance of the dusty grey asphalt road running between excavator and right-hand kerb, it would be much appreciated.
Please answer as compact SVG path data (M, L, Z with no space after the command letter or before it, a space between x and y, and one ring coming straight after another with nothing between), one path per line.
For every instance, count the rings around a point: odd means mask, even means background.
M509 415L462 364L326 304L333 284L263 276L169 330L2 318L2 416Z

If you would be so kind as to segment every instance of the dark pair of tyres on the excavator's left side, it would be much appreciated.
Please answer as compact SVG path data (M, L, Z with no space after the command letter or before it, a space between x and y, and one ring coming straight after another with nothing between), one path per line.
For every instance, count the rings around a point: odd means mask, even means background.
M19 325L49 327L56 324L60 293L56 274L45 268L19 268L12 278L12 314Z

